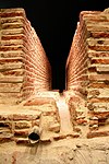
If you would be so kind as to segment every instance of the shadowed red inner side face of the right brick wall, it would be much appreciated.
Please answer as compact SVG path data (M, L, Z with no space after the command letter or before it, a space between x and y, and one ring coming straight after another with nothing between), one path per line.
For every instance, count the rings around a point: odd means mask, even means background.
M83 31L84 30L84 31ZM87 45L86 27L83 22L77 23L70 55L66 61L66 90L82 92L87 84Z

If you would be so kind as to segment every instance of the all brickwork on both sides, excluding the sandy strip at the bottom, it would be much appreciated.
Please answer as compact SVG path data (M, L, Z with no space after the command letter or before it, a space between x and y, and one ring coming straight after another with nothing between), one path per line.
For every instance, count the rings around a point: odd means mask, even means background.
M51 91L50 63L25 11L1 9L0 142L26 144L34 127L43 129L41 142L109 136L109 9L81 12L61 97ZM59 110L65 103L68 133Z

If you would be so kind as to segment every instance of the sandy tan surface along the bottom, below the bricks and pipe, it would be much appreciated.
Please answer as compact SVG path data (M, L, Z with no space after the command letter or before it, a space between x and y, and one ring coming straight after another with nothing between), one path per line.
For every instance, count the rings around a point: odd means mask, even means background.
M109 164L109 138L0 144L0 164Z

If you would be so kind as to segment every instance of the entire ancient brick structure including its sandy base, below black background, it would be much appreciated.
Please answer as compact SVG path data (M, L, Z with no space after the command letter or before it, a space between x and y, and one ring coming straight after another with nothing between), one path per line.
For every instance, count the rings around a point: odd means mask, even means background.
M1 9L0 162L108 164L108 140L109 9L81 12L61 96L24 10Z

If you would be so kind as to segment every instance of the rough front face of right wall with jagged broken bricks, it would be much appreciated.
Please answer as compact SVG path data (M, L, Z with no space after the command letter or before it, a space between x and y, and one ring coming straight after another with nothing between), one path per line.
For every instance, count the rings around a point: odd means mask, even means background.
M88 37L87 108L92 137L109 136L109 9L82 13Z

